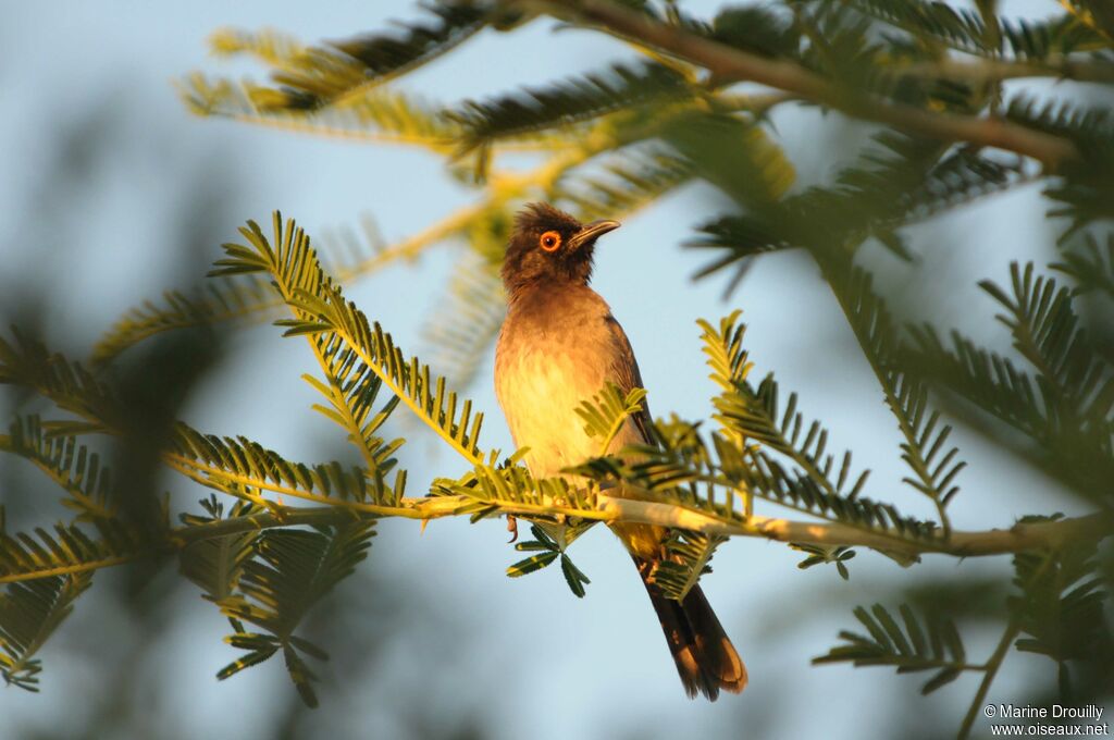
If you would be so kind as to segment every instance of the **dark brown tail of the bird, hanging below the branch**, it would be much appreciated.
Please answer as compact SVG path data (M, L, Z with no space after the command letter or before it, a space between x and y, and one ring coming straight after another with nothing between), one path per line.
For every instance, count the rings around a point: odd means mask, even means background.
M652 563L638 562L638 572L688 698L700 692L709 701L715 701L721 689L732 693L742 691L746 687L746 666L700 586L694 586L678 602L667 598L654 584Z

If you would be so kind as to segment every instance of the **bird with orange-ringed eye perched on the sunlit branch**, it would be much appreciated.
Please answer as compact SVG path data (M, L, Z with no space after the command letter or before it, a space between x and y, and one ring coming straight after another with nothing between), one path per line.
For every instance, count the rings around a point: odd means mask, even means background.
M575 483L563 469L599 452L576 408L608 381L624 396L643 387L626 332L589 286L596 241L618 227L610 220L582 224L547 203L527 204L515 217L501 269L507 314L496 343L495 387L535 477L565 475ZM651 442L649 419L644 401L608 452ZM688 697L715 701L721 690L742 691L746 668L700 586L678 602L654 583L668 530L631 523L610 528L634 558Z

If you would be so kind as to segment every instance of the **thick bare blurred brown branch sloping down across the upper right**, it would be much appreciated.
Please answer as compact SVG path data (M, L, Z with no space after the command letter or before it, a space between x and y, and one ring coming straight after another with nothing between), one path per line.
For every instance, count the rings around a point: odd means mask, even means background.
M598 26L607 33L644 43L707 69L723 81L753 81L792 93L856 118L900 128L944 142L968 142L1033 157L1055 172L1079 158L1075 145L998 116L977 117L928 113L836 85L804 67L749 53L724 43L655 21L607 0L541 0L545 12L573 22Z

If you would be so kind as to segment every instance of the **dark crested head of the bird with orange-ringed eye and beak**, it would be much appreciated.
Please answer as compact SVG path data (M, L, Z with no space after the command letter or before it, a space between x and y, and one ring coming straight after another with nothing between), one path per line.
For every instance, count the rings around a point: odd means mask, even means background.
M528 285L587 284L596 240L617 221L582 224L547 203L531 203L515 217L502 263L502 282L514 295Z

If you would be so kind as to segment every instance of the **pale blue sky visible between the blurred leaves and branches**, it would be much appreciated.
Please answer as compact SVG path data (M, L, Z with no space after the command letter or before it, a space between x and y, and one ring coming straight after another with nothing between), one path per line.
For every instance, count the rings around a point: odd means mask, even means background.
M49 285L55 296L48 321L52 335L88 347L126 309L166 288L194 284L202 272L182 274L185 262L172 259L165 249L167 220L183 197L183 181L212 188L211 195L226 204L207 227L216 235L213 243L199 247L206 261L217 255L219 241L235 237L243 221L267 220L276 207L311 234L354 224L369 213L393 240L467 203L470 192L424 153L203 120L185 111L170 86L174 78L197 68L240 69L206 56L206 37L222 26L274 27L313 41L381 29L388 18L416 13L411 3L401 1L333 2L328 11L262 1L6 3L0 27L0 152L6 163L0 168L0 289L12 295L27 288L29 271L40 275L39 284ZM485 35L407 80L405 87L441 100L481 96L620 55L607 39L585 32L553 35L549 25L535 23L510 36ZM42 173L59 157L70 156L57 148L60 133L72 130L106 98L118 116L104 134L108 159L75 171L65 193L43 193ZM815 172L810 159L812 154L823 158L824 145L833 143L817 140L819 118L779 116L776 124L802 174L831 174ZM90 127L88 136L96 130ZM225 168L223 174L217 165ZM198 179L209 168L212 179ZM94 174L82 179L81 172ZM42 203L50 218L29 224L28 214ZM608 235L597 253L595 286L632 338L655 412L707 416L712 388L694 321L715 321L742 308L756 372L774 370L783 388L800 391L805 413L831 427L833 445L852 447L857 463L873 469L872 495L930 515L925 502L900 486L903 471L892 418L807 260L798 254L763 259L726 302L721 300L722 281L688 280L702 257L681 251L678 244L716 205L711 191L688 188ZM1030 188L964 208L913 234L924 264L910 267L886 262L885 256L879 264L895 280L907 281L916 298L927 290L926 274L971 274L975 267L980 278L1004 280L1012 252L1003 247L1023 238L1039 244L1045 226ZM964 251L950 249L952 242L965 244ZM392 267L353 285L350 295L404 348L417 348L433 291L458 249L437 247L414 265ZM985 333L983 319L994 305L986 298L971 298L976 295L973 283L960 286L957 309L938 317L940 322ZM973 304L974 315L967 308ZM2 301L0 310L11 305ZM0 323L7 324L8 318ZM207 431L246 435L299 458L324 454L328 445L336 444L339 435L310 411L313 395L299 380L301 372L312 370L304 347L282 340L268 327L237 337L244 345L194 400L187 420ZM469 395L488 412L485 445L509 448L489 366ZM1009 458L987 450L976 435L959 429L956 438L970 459L960 478L965 490L952 508L956 526L1003 526L1014 514L1064 508L1049 503L1036 473L1010 469ZM448 451L423 440L411 444L403 464L412 470L416 495L432 475L461 469ZM199 495L190 493L180 502ZM392 726L384 724L390 720L379 711L384 705L413 705L436 721L440 708L476 693L489 702L486 728L498 738L608 738L620 732L664 737L676 728L684 728L686 737L750 737L747 730L785 739L892 737L900 724L880 724L864 715L885 714L890 703L912 698L920 682L881 669L811 668L809 660L827 652L840 629L852 626L851 605L886 598L895 583L955 568L998 574L1008 568L1005 558L961 564L928 558L918 568L901 571L880 556L860 553L851 563L852 581L844 584L831 569L798 571L801 556L780 545L733 542L716 555L716 573L705 580L705 590L747 662L752 684L741 697L709 705L685 699L638 578L605 530L594 532L574 549L593 580L583 601L567 592L556 568L506 578L504 568L517 554L505 544L499 523L438 522L419 536L411 523L385 522L380 530L363 569L394 574L397 581L432 594L427 603L447 617L459 654L423 654L421 634L402 634L397 660L437 674L428 685L377 682L343 698L323 688L321 721L328 718L333 731L349 737L373 730L385 733L381 737L392 734ZM359 578L344 586L359 587ZM180 727L182 737L267 737L270 704L257 701L261 694L277 704L297 701L282 666L275 660L217 683L214 673L234 651L221 643L226 624L216 611L199 598L189 604L195 602L188 620L174 622L168 642L153 645L143 658L147 669L163 665L173 674L173 691L149 688L136 701L150 702L170 726ZM104 666L91 664L81 648L82 641L94 640L98 614L79 603L62 634L43 652L43 693L0 691L6 722L19 726L50 715L80 727L87 711L81 698L111 690ZM974 630L969 645L979 656L990 649L980 637L987 635ZM1018 676L1033 669L1045 670L1043 680L1054 679L1038 659L1014 656L1006 665L991 699L1008 701ZM541 666L540 674L536 666ZM915 705L958 721L975 680L965 678ZM418 694L414 689L422 685L427 691Z

